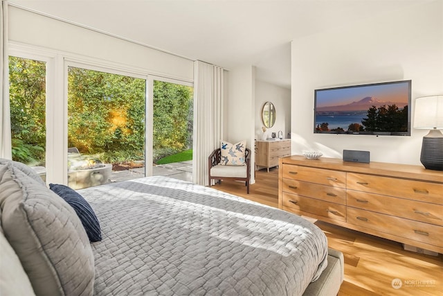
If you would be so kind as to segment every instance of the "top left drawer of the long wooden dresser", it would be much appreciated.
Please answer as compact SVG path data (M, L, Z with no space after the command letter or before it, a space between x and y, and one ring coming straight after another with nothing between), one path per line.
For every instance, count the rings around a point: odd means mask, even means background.
M312 159L312 161L315 162L314 159ZM285 164L283 166L282 177L342 188L346 186L345 172L325 170L323 168L309 168L306 166Z

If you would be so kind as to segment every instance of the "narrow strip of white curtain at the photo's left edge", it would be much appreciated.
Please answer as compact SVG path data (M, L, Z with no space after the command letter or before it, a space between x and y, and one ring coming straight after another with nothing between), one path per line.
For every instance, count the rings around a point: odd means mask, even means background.
M8 1L1 1L0 6L0 157L12 159L11 128L9 109L9 62L8 62Z

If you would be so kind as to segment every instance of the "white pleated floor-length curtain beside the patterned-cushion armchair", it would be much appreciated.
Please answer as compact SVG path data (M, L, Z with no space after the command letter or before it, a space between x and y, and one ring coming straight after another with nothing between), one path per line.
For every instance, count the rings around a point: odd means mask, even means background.
M209 185L208 157L218 148L223 135L223 69L206 62L194 62L193 177Z

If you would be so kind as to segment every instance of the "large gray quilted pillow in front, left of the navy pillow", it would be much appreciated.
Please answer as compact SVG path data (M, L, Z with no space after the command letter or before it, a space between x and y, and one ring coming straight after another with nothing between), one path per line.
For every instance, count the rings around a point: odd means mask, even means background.
M3 232L35 294L92 295L89 238L72 207L12 162L0 163Z

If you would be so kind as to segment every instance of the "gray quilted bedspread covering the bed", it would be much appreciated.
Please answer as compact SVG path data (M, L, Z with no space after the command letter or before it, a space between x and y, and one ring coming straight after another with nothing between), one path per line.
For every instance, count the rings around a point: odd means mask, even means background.
M327 265L316 225L169 177L82 189L102 227L94 295L301 295Z

